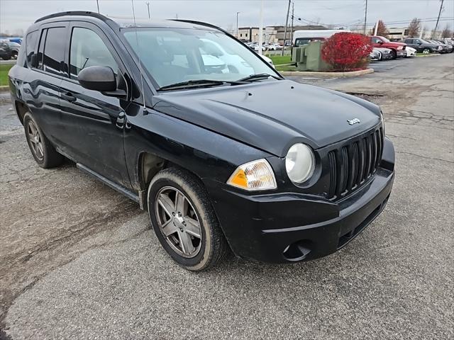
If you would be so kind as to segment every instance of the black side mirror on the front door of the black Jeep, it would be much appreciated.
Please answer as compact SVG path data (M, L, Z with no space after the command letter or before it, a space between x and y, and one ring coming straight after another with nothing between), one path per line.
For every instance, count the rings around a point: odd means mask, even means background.
M116 90L115 73L108 66L91 66L82 69L77 75L77 79L85 89L100 92Z

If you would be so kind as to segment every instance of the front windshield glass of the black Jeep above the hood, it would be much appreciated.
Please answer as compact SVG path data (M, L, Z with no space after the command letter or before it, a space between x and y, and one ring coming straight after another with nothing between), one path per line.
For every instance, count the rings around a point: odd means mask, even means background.
M221 32L127 28L123 35L159 87L200 79L237 81L251 74L277 76L255 52Z

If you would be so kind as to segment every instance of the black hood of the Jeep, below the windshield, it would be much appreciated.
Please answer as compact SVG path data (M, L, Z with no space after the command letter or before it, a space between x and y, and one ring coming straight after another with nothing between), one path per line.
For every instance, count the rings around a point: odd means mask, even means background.
M295 142L318 149L381 119L368 101L289 80L159 93L153 109L279 157ZM360 123L350 125L353 118Z

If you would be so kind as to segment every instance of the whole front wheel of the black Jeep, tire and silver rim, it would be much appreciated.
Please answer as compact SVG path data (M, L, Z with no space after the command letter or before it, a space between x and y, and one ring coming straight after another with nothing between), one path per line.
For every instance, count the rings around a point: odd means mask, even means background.
M194 175L177 168L160 171L148 187L147 201L156 237L179 266L204 271L226 256L228 244L214 208Z

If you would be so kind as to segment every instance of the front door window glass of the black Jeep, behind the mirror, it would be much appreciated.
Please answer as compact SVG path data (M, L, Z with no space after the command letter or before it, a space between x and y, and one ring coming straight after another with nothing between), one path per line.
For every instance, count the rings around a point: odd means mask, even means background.
M116 61L99 35L88 28L74 27L70 50L71 79L77 79L77 74L90 66L109 66L118 73Z

